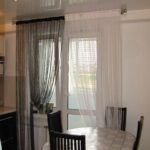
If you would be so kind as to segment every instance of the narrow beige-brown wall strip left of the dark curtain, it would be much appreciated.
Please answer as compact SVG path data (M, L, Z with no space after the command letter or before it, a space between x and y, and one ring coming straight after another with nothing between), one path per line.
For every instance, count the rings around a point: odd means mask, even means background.
M5 33L4 106L16 107L16 33Z

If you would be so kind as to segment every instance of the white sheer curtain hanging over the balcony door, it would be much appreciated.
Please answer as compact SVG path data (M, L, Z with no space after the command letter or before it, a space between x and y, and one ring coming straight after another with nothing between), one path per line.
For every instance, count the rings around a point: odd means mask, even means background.
M116 14L66 15L69 94L74 96L87 126L103 127L106 107L122 105L121 31ZM118 119L118 112L114 113Z

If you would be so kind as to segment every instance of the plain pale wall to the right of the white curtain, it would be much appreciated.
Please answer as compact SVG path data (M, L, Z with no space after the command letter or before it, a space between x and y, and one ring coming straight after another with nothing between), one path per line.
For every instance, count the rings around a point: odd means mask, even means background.
M139 150L150 149L150 21L122 23L123 103L127 106L127 130L136 133L144 115Z

